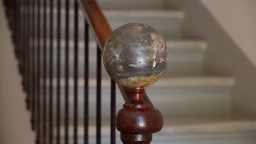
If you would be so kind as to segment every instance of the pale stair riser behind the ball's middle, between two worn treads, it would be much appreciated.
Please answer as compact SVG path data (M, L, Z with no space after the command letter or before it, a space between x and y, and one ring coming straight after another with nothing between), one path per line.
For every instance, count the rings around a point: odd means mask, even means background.
M42 43L41 43L42 44ZM79 46L79 76L84 76L84 46ZM31 48L32 49L32 48ZM41 48L41 62L43 65L43 47ZM49 49L46 50L49 55ZM61 76L65 76L65 46L61 46ZM168 66L164 76L199 76L203 73L203 61L205 51L189 50L189 49L168 49ZM56 47L54 48L54 63L56 64ZM49 56L46 57L46 63L49 64ZM89 49L89 73L90 77L96 77L96 44L90 44ZM74 48L73 45L69 48L69 75L73 76L74 66ZM54 71L56 71L54 65ZM56 73L54 73L56 76ZM102 63L102 77L109 77Z

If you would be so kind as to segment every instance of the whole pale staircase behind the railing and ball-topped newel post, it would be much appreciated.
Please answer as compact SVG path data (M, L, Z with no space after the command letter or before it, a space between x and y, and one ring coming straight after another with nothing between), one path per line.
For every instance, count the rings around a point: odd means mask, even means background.
M64 5L65 1L63 1ZM155 107L164 115L164 127L154 134L152 143L211 143L211 144L255 144L256 143L256 117L242 115L232 111L232 87L235 79L232 76L208 75L204 71L205 52L207 41L198 39L183 39L182 22L185 14L182 10L165 9L163 1L155 0L98 0L110 26L115 29L125 23L146 23L156 28L164 38L168 47L168 67L164 76L153 86L147 89L147 94ZM56 10L54 10L56 17ZM70 11L73 16L73 11ZM43 16L42 16L43 17ZM49 16L48 16L49 17ZM61 11L61 21L64 23L65 8ZM79 11L79 20L84 17ZM55 19L55 18L54 18ZM70 21L73 21L71 17ZM79 29L84 26L84 21L79 22ZM56 25L55 25L56 27ZM43 28L42 28L43 29ZM64 31L61 25L61 31ZM70 38L73 38L73 26L70 26ZM64 36L61 37L61 71L64 71ZM89 143L95 143L96 137L96 41L90 33L90 90L89 90ZM56 44L56 37L54 37ZM79 35L79 76L83 76L83 34ZM73 40L69 41L69 67L73 68ZM54 46L56 47L56 46ZM43 53L43 52L42 52ZM56 52L54 54L56 59ZM49 63L49 59L46 59ZM43 63L43 61L42 61ZM54 67L56 68L56 67ZM54 69L56 71L56 69ZM69 71L73 76L73 71ZM64 93L64 73L61 73L61 93ZM83 122L83 94L84 79L79 79L79 122ZM73 80L69 80L69 102L73 104ZM56 87L56 80L54 80ZM54 88L56 89L56 88ZM54 92L56 94L56 92ZM102 143L109 142L110 134L110 80L107 72L102 67ZM54 96L54 98L56 98ZM55 99L56 103L56 99ZM65 103L61 97L61 105ZM117 111L121 109L124 100L117 89ZM69 107L71 119L69 130L72 131L73 107ZM55 112L55 111L54 111ZM64 118L62 108L61 119ZM55 130L54 130L55 131ZM78 128L79 143L83 143L83 125ZM56 131L55 131L56 132ZM72 132L69 133L72 137ZM64 137L64 125L62 121L61 135ZM119 132L117 131L117 135ZM63 140L61 143L63 143ZM70 139L70 143L72 143ZM117 136L117 143L121 143Z

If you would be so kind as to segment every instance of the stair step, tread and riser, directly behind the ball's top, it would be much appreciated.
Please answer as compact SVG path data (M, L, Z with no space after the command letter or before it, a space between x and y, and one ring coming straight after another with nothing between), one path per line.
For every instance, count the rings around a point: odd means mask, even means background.
M25 13L25 12L22 12ZM43 17L43 9L41 8L40 13ZM46 10L47 19L49 21L49 8ZM53 11L53 19L56 20L57 9ZM106 16L110 26L113 28L118 28L121 25L131 22L145 23L157 29L166 39L179 39L181 38L181 22L184 18L183 11L179 10L161 10L161 9L143 9L143 10L103 10L104 15ZM69 26L70 34L69 37L73 38L74 30L74 11L70 11L69 17ZM31 14L32 15L32 14ZM65 32L65 9L61 9L61 32ZM159 22L161 21L161 22ZM54 27L57 27L56 21L54 21ZM41 25L43 31L43 26ZM49 32L49 26L46 28ZM84 37L84 14L82 11L79 11L79 38ZM90 34L92 36L92 34ZM55 37L56 35L54 35ZM61 38L64 38L65 34L61 34Z

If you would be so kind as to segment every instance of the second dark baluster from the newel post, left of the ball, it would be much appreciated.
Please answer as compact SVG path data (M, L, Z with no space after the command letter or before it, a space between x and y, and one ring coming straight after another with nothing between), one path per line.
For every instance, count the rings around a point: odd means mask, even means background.
M101 49L97 45L96 143L101 143Z

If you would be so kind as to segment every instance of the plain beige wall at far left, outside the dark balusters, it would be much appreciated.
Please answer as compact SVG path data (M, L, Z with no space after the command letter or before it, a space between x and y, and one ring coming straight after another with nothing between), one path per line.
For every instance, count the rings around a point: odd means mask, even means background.
M0 143L32 144L30 114L26 111L25 93L10 41L4 9L0 6Z

